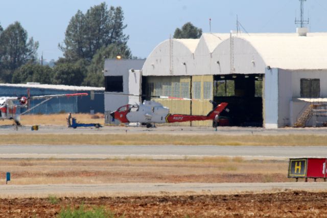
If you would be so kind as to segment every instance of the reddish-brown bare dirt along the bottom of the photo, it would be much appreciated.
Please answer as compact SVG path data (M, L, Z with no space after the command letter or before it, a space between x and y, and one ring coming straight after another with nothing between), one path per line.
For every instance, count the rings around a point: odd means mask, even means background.
M54 217L62 208L103 206L123 217L319 217L327 212L327 192L279 192L162 197L0 199L1 217Z

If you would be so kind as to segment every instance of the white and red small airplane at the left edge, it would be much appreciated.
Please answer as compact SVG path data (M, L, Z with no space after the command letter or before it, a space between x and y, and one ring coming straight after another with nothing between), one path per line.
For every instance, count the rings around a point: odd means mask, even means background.
M16 125L20 125L20 115L30 112L33 108L39 106L45 101L49 101L54 97L75 97L75 96L87 96L87 93L74 93L74 94L60 94L60 95L43 95L43 96L30 96L28 91L28 97L0 97L0 119L13 120ZM35 106L29 108L21 114L16 114L18 107L27 107L30 100L42 99L42 102L36 104ZM14 101L19 101L19 105L16 105Z

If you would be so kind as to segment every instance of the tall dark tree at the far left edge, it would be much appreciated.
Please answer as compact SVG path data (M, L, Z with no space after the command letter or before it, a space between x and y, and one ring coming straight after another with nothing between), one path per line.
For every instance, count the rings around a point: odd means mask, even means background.
M11 81L12 73L27 63L35 61L38 42L33 37L28 39L27 31L16 21L9 25L0 35L0 56L2 68L6 70L3 78L6 82Z

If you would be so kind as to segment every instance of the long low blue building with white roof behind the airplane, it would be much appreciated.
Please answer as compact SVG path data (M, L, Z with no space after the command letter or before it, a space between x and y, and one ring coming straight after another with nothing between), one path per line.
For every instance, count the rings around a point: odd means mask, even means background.
M88 96L52 98L35 107L29 114L54 114L54 113L104 113L104 88L71 85L49 85L38 83L8 84L0 83L0 96L27 96L30 89L31 96L88 93ZM30 107L42 102L44 99L30 101ZM26 111L20 107L20 113Z

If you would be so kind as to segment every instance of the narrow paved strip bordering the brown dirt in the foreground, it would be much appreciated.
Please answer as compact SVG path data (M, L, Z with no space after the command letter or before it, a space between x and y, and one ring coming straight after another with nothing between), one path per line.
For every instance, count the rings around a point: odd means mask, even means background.
M286 183L124 183L124 184L55 184L0 185L0 197L48 197L55 195L165 195L185 193L239 193L285 190L326 191L325 182Z

